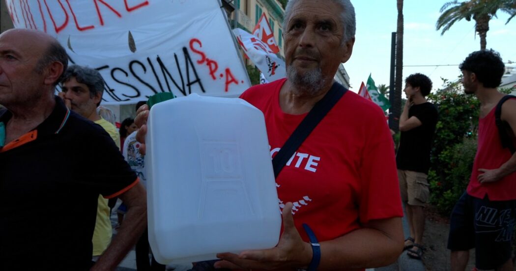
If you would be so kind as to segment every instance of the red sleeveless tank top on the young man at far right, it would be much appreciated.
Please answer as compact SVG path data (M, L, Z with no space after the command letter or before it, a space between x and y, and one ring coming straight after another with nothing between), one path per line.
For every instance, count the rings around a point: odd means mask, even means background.
M480 199L487 194L490 200L514 200L516 199L516 172L492 183L480 184L477 179L478 174L481 173L478 171L479 168L499 168L512 156L508 148L502 148L498 127L494 122L495 108L486 117L478 120L478 148L467 194Z

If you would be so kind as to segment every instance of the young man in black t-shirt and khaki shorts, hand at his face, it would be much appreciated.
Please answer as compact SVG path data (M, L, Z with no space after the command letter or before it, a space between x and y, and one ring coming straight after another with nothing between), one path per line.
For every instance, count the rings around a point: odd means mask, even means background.
M431 89L432 82L424 74L415 73L405 79L407 102L399 120L401 137L396 154L401 200L406 204L410 228L405 249L409 257L420 260L425 229L423 208L430 194L430 149L438 117L436 107L425 98Z

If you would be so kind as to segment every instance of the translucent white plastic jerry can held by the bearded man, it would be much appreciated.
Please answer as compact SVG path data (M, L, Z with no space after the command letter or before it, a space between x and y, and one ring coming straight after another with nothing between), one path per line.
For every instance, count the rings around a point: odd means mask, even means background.
M146 138L149 243L159 263L277 245L281 213L263 113L191 94L154 105Z

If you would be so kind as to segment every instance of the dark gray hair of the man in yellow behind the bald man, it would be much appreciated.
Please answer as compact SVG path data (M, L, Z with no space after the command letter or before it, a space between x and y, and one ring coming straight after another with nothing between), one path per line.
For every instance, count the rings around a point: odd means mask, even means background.
M104 79L99 71L84 66L72 65L68 67L63 74L61 83L68 82L72 77L75 77L77 83L88 86L90 98L95 97L97 93L100 93L102 97L102 93L104 92ZM97 106L99 106L99 104Z

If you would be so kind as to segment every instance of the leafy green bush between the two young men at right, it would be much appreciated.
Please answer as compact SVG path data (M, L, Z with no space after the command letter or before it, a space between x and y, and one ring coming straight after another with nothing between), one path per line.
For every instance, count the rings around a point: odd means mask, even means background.
M466 95L459 82L446 80L427 100L439 109L428 174L430 203L449 216L471 175L480 103L474 95Z

